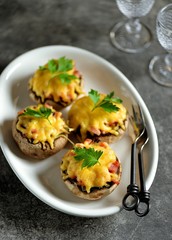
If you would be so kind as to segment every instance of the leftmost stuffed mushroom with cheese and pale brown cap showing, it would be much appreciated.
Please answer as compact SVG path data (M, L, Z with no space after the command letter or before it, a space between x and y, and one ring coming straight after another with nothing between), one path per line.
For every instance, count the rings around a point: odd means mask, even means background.
M67 143L69 127L49 105L34 105L21 110L13 121L12 135L21 151L36 159L47 158Z

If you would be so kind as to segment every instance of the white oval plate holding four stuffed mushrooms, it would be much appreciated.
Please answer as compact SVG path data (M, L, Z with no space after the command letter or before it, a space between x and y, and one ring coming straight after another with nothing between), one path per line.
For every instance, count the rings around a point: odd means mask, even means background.
M114 214L122 209L122 198L130 180L130 138L125 137L111 147L121 160L123 173L120 185L109 196L98 201L82 200L64 185L59 165L67 149L45 159L35 161L21 153L12 139L11 123L17 112L33 104L28 96L28 79L34 71L52 58L66 56L74 59L85 81L85 91L91 88L100 92L114 91L131 111L133 103L140 104L150 140L144 149L146 187L150 188L158 164L158 140L150 113L141 96L129 80L112 64L83 49L70 46L47 46L29 51L12 61L0 77L0 141L3 153L21 182L49 206L76 216L99 217ZM67 110L63 112L67 116Z

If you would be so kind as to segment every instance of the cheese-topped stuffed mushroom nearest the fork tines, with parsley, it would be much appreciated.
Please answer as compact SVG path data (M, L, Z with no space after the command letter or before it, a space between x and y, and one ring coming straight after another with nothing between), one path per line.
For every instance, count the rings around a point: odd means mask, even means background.
M86 138L112 143L119 140L128 126L128 113L122 100L114 93L91 90L88 96L76 100L68 114L69 126L79 141Z

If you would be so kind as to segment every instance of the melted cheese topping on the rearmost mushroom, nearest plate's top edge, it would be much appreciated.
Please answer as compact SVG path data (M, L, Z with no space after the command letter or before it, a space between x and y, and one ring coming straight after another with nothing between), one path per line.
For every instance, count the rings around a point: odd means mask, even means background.
M55 61L58 62L58 60ZM44 67L47 67L47 64ZM51 73L48 69L38 69L29 81L29 88L37 97L41 98L42 103L46 99L51 99L55 102L63 101L70 103L82 93L81 76L75 69L74 62L73 69L66 73L75 75L76 79L71 80L68 84L62 83L57 72Z

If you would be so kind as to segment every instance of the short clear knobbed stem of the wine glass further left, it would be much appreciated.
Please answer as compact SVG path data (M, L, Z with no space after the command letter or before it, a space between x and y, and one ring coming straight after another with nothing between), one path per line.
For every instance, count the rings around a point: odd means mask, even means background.
M142 25L138 18L130 18L129 21L125 25L126 30L130 34L137 34L141 31Z

